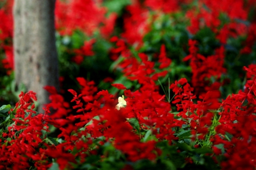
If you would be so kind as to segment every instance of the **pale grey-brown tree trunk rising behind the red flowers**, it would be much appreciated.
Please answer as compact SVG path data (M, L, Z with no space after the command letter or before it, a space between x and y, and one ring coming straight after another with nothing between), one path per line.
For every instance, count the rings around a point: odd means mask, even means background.
M59 90L55 45L55 0L15 0L14 58L15 81L36 92L39 112L49 102L46 85Z

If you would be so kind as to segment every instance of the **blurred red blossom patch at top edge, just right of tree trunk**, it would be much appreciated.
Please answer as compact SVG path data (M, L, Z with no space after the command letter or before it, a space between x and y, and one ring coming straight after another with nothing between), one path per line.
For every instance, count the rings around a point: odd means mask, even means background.
M102 24L101 34L108 36L113 31L117 15L113 13L106 17L107 9L101 3L92 0L56 1L57 30L61 35L71 35L79 29L91 36Z

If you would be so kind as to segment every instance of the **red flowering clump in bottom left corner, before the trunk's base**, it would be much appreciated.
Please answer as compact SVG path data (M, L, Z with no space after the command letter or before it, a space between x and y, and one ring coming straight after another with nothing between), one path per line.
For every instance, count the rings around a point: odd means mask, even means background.
M32 91L19 95L19 102L9 111L11 123L2 133L0 147L0 169L28 169L31 163L38 169L49 168L47 147L44 134L48 130L46 114L34 111L36 94Z

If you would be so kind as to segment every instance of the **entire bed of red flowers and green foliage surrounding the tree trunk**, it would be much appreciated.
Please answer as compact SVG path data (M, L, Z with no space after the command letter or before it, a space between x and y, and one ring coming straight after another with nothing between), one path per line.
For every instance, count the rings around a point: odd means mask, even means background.
M56 1L62 85L44 113L14 86L12 6L0 169L255 169L255 1Z

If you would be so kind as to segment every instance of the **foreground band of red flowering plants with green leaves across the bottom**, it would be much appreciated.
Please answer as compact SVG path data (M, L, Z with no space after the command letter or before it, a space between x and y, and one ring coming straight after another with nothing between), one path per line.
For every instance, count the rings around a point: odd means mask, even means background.
M55 88L46 87L52 103L44 114L32 110L34 92L22 93L14 109L0 109L1 168L253 169L256 70L245 70L252 76L245 91L222 103L218 91L197 99L185 78L171 84L177 112L152 82L135 92L125 90L126 107L118 111L113 95L95 94L93 82L79 78L82 93L69 90L77 114L66 119L61 114L68 105ZM57 112L49 114L50 107ZM49 125L61 130L57 138L47 135Z

